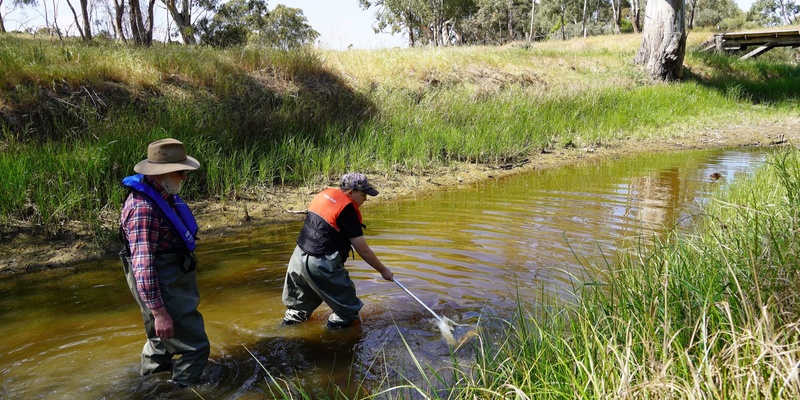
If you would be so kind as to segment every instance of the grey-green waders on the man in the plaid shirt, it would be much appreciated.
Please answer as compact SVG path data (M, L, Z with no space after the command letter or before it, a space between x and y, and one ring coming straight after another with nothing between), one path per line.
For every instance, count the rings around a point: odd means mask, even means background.
M211 347L205 333L203 316L197 311L200 294L195 272L189 270L194 262L193 258L173 252L157 254L153 260L158 271L161 297L174 324L175 335L168 340L156 335L155 318L139 296L130 256L123 251L120 258L128 288L139 305L147 334L147 342L142 348L140 373L148 375L172 369L172 379L176 382L191 384L199 381L208 362ZM176 355L181 357L173 362L172 358Z

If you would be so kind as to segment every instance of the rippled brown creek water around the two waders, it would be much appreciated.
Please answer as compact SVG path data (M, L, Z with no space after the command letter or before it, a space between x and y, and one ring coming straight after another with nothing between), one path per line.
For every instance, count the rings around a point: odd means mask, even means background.
M720 149L533 171L368 202L365 233L398 281L465 325L454 330L463 343L454 358L468 363L483 321L511 319L520 305L572 301L597 268L688 229L709 190L764 159L757 150ZM119 260L0 279L0 398L260 399L281 397L286 381L310 397L361 397L359 387L384 379L435 382L453 360L437 321L358 257L347 266L365 303L360 327L325 329L324 305L305 324L280 325L299 228L201 235L200 310L212 353L211 382L196 393L171 390L167 374L138 375L144 333Z

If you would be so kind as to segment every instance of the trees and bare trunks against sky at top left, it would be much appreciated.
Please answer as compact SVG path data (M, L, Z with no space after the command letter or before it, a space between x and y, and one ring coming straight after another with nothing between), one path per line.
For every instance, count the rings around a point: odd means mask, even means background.
M34 34L79 35L84 40L104 37L149 46L155 21L167 21L165 42L203 44L215 47L246 43L293 48L313 43L319 33L308 24L299 8L277 5L268 9L266 0L0 0L0 33L4 18L23 8L35 9L44 26L25 26ZM66 2L73 17L59 26L59 4Z

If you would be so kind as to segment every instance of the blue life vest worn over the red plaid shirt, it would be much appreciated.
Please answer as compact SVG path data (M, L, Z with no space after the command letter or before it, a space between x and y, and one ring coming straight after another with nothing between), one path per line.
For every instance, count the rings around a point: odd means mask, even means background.
M169 221L170 225L172 225L173 232L183 240L186 248L189 249L190 252L194 251L194 248L197 246L195 243L197 221L195 221L189 206L187 206L178 195L173 195L175 206L174 208L170 207L169 203L161 197L161 194L156 192L152 186L144 181L144 175L142 174L126 176L125 179L122 180L122 186L133 189L150 200L150 204L161 211L161 215Z

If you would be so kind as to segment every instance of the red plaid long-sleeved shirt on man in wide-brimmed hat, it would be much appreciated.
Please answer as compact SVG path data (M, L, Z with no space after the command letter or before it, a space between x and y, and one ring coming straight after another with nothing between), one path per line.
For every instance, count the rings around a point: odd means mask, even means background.
M172 205L174 198L149 176L145 182ZM153 260L158 251L182 246L180 238L172 232L171 225L161 212L143 194L132 191L122 206L120 224L131 251L131 268L136 278L136 288L145 305L151 310L164 306L158 285L158 271Z

